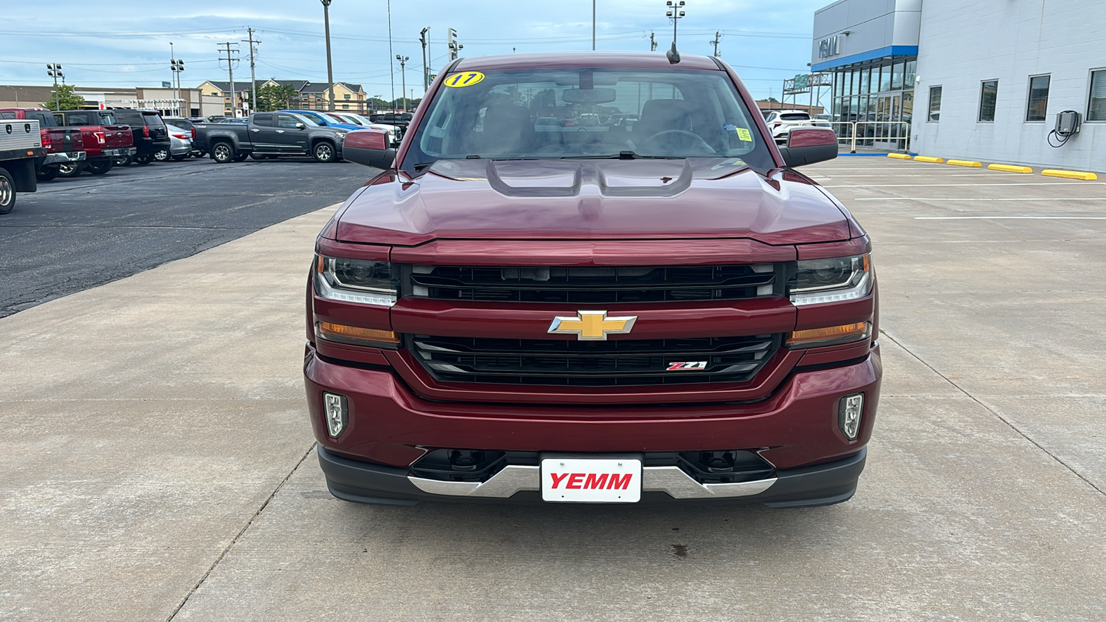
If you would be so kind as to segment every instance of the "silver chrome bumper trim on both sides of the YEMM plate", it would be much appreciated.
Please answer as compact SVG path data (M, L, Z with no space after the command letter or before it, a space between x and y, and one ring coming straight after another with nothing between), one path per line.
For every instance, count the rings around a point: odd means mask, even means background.
M491 497L505 499L520 490L541 489L541 469L536 466L508 465L487 481L442 481L408 475L419 490L452 497ZM677 466L644 467L641 491L667 493L675 499L717 499L759 495L775 484L776 478L738 481L734 484L699 484Z

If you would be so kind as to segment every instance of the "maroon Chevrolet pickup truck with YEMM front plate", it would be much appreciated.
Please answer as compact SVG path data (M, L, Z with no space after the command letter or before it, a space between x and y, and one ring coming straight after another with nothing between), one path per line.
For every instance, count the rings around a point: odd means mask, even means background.
M536 118L598 116L587 127ZM619 125L638 115L633 127ZM881 366L872 243L719 59L462 59L320 234L304 375L345 500L841 502Z

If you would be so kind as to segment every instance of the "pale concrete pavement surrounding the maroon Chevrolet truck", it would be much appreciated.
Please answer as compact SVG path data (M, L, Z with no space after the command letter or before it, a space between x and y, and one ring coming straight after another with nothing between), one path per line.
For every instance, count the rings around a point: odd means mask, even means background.
M1102 620L1106 185L806 170L879 273L849 501L334 499L302 384L324 209L0 319L0 620Z

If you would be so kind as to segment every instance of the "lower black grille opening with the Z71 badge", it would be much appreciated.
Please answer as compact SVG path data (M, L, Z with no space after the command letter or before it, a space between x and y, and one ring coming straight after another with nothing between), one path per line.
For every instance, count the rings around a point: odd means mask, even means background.
M744 382L781 340L781 334L609 341L406 336L418 362L440 381L560 386Z

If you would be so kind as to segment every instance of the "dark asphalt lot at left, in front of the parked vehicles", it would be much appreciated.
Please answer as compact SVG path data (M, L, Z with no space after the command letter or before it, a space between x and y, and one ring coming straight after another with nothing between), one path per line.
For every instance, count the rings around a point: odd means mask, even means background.
M0 216L0 317L345 200L367 173L310 158L205 158L40 184Z

